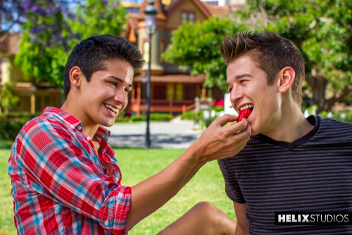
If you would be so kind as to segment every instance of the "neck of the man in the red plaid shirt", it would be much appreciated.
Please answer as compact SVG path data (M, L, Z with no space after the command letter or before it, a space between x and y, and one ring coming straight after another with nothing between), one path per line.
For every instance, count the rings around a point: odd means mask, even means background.
M61 106L61 110L67 112L68 114L74 116L76 119L81 121L81 125L83 127L83 133L84 135L89 135L90 138L93 139L96 131L98 131L99 125L89 123L87 119L84 118L84 115L82 115L80 112L77 112L77 107L73 105L73 102L68 102L68 100L65 100L63 105Z

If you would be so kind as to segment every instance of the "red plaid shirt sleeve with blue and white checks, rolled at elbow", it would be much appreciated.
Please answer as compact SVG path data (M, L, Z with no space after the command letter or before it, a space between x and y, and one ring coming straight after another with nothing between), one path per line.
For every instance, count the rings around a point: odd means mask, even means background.
M43 229L41 223L47 220L46 231L41 230L41 234L50 234L49 227L61 231L60 234L66 234L62 229L68 227L77 234L82 231L101 234L94 232L96 227L124 234L131 188L120 186L119 180L103 172L92 140L89 141L82 130L70 130L65 123L56 120L32 120L13 145L8 172L13 182L18 229ZM62 207L73 212L64 217L63 212L58 211ZM54 219L47 218L50 213ZM80 221L75 221L78 217Z

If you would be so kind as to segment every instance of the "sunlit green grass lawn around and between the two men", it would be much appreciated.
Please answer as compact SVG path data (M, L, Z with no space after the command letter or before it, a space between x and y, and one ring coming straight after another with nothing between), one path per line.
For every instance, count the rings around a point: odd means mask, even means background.
M184 150L115 149L122 171L122 185L133 186L166 167ZM13 223L11 180L7 174L10 150L0 150L0 234L17 234ZM172 200L137 224L130 235L157 234L201 201L208 201L234 217L232 202L225 195L225 183L217 162L208 162Z

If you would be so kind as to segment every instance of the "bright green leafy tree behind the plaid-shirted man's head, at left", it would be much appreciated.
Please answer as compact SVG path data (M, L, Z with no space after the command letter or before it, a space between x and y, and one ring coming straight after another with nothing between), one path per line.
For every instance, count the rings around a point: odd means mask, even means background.
M38 23L56 26L43 30L45 27L38 28ZM23 78L35 83L63 85L64 60L69 48L68 41L63 37L63 32L69 30L64 13L56 11L51 16L33 13L21 28L20 50L15 56L15 63L23 72Z

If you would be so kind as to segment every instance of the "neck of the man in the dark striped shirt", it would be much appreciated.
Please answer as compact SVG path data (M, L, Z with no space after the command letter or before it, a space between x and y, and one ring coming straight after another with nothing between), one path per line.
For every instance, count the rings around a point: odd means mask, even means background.
M285 142L293 142L313 129L304 117L301 109L294 102L291 105L282 107L281 115L277 121L274 131L263 133L268 137Z

